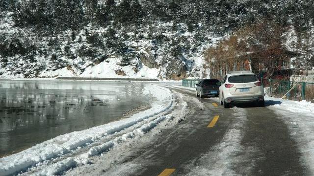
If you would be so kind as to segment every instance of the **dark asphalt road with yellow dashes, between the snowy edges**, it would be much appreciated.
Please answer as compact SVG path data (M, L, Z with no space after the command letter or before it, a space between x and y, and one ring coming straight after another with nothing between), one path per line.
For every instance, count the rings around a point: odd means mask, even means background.
M144 168L124 175L312 175L287 125L272 110L250 105L224 109L217 98L197 98L204 104L200 108L192 91L170 89L184 95L189 114L175 129L161 132L118 163Z

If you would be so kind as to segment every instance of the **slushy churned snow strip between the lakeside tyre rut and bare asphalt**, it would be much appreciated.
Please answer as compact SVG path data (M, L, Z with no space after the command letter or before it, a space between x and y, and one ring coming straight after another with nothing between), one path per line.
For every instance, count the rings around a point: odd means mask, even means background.
M136 171L142 170L142 167L145 166L128 158L130 158L134 152L138 152L137 150L141 150L141 147L151 144L151 142L155 140L155 136L160 134L162 130L173 128L180 121L182 121L188 113L189 109L187 103L183 100L183 95L181 93L174 92L173 96L175 99L179 100L178 103L175 103L173 107L174 110L171 110L168 114L159 116L157 118L158 120L155 120L158 121L158 126L155 128L149 128L151 130L149 133L146 133L145 131L147 130L144 130L141 132L141 135L134 135L127 140L119 140L119 145L116 145L108 152L92 156L90 161L93 164L76 167L67 171L66 175L99 176L105 174L106 176L124 176L130 175L132 171L133 173L136 173ZM135 131L137 130L134 130L133 132ZM133 132L131 132L131 134L133 134ZM142 153L145 151L140 152ZM130 161L123 162L125 159ZM122 161L122 163L119 163L120 161Z

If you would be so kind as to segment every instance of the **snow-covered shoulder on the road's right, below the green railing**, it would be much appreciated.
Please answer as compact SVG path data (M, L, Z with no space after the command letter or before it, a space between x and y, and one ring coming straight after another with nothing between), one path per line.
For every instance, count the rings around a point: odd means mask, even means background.
M297 142L304 163L314 174L314 104L266 97L267 108L281 115L291 136Z

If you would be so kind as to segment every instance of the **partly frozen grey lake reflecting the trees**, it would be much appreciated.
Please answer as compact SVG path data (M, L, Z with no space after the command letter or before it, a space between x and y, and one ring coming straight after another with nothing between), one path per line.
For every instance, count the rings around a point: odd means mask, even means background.
M143 82L0 81L0 157L150 108Z

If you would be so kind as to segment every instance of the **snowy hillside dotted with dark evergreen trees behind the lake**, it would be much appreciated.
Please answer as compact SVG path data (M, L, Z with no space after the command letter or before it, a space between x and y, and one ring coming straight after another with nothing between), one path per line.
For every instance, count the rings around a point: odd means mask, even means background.
M311 67L313 9L292 0L2 0L0 78L202 77L209 46L261 21L280 24L282 47Z

